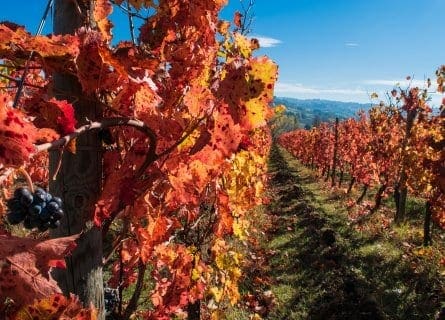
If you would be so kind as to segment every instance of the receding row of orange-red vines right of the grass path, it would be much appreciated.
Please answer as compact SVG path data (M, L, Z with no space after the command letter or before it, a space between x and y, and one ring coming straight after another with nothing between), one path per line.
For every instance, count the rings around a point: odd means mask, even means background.
M444 91L444 72L445 67L437 71L439 92ZM407 194L424 199L427 244L431 218L445 226L445 107L433 111L427 90L419 88L395 88L389 97L388 104L382 102L356 118L282 134L279 143L332 186L341 186L345 177L350 179L347 192L354 184L362 185L357 202L368 189L376 189L365 217L393 195L395 221L401 222Z

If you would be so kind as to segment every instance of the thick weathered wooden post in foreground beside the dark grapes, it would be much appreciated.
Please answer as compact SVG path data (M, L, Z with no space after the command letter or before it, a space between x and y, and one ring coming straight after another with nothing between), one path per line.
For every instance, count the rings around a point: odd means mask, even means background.
M73 34L81 26L92 26L94 1L56 0L54 33ZM82 93L77 79L66 74L54 76L54 95L75 107L78 125L100 117L100 108L93 97ZM60 152L50 154L50 176L57 172ZM102 232L92 223L94 204L101 189L102 154L96 132L84 134L76 141L76 153L65 151L56 179L50 181L52 194L64 201L65 217L53 237L82 232L67 269L55 273L64 294L74 293L85 306L91 303L98 310L98 319L105 319L102 275Z

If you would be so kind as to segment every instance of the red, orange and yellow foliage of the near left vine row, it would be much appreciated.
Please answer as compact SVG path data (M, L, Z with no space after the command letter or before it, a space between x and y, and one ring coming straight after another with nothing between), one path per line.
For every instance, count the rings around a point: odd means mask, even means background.
M262 203L277 66L254 57L257 46L219 21L226 1L128 2L134 10L151 9L137 44L111 45L108 0L96 1L96 28L74 35L32 36L23 27L0 24L6 76L0 93L0 213L19 168L35 184L47 185L46 152L66 146L57 139L68 135L65 152L75 152L74 137L88 125L101 126L76 118L76 97L57 98L54 75L70 75L101 106L110 136L103 190L89 217L113 239L110 285L125 290L150 270L154 288L142 298L153 309L139 310L141 316L181 317L197 300L211 305L212 313L240 298L244 257L234 243L250 236L249 210ZM26 64L25 89L13 108L15 79ZM63 267L57 261L74 237L1 237L4 312L94 318L94 312L74 307L75 298L58 295L49 275L49 268ZM3 281L10 277L14 288Z

